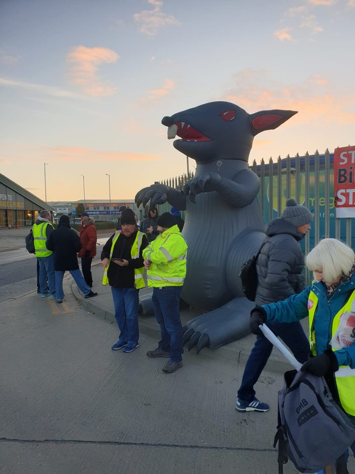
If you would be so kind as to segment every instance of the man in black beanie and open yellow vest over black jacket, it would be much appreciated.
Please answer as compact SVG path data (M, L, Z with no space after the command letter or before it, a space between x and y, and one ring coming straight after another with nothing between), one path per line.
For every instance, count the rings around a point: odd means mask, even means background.
M118 341L111 349L132 352L139 347L139 290L145 287L142 252L148 241L137 229L132 209L122 210L121 227L106 242L101 264L105 269L103 285L111 286L120 330Z

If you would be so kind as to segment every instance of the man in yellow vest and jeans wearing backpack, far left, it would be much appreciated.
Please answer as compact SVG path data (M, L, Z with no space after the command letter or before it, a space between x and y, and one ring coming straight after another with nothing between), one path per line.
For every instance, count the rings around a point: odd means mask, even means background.
M54 275L53 252L45 246L50 232L54 230L52 222L50 222L50 212L42 210L39 218L32 227L33 240L35 244L36 257L39 263L39 288L41 297L45 298L49 295L50 299L56 298L56 283ZM49 293L47 290L47 284Z

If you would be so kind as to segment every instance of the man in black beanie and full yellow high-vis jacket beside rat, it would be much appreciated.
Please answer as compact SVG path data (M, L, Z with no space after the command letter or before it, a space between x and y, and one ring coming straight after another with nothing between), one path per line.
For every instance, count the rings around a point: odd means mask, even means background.
M171 373L183 366L180 294L186 276L187 243L170 212L157 219L157 230L160 235L143 250L143 257L161 340L146 354L150 358L169 358L162 370Z

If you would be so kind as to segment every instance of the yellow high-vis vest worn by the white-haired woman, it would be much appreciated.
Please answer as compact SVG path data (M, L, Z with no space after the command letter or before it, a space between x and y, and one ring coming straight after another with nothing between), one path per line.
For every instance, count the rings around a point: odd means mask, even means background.
M336 330L340 323L340 317L345 311L351 311L351 306L355 300L355 290L351 293L350 298L344 304L344 306L338 311L334 316L332 322L332 337L336 333ZM309 338L311 344L311 351L313 355L317 354L317 347L315 341L315 330L314 330L314 320L315 313L318 305L317 295L311 291L308 297L308 315L309 315ZM333 349L333 351L338 349ZM352 416L355 416L355 404L354 404L354 393L355 393L355 369L351 369L348 365L340 366L339 370L334 373L335 383L337 386L339 399L341 406Z

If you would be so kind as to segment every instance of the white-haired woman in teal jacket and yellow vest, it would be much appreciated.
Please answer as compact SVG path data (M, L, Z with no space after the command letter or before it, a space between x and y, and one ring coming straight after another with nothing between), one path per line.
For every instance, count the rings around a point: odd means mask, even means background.
M309 317L311 357L301 370L325 377L334 400L355 425L355 328L349 326L343 346L335 341L341 317L355 311L354 260L355 254L347 245L337 239L321 240L306 257L307 268L313 271L311 285L284 301L255 307L250 329L257 334L261 324L291 326ZM355 443L351 449L355 452ZM348 474L345 455L336 464L337 474Z

